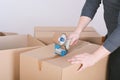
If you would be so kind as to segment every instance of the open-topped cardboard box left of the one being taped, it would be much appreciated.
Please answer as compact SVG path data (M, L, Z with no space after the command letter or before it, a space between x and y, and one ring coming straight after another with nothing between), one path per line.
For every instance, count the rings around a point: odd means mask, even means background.
M20 80L20 53L45 46L30 35L0 37L0 80Z

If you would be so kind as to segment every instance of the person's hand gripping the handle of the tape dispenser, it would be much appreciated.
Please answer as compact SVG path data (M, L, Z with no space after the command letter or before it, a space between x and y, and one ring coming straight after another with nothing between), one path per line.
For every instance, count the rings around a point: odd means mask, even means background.
M71 40L70 45L75 45L78 42L79 35L80 35L79 33L73 32L68 36L68 39Z

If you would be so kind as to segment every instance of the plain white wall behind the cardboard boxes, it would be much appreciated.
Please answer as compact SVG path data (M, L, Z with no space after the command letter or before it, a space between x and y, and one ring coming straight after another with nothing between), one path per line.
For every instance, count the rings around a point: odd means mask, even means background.
M76 26L85 0L0 0L0 31L33 34L34 26ZM102 7L90 25L106 34Z

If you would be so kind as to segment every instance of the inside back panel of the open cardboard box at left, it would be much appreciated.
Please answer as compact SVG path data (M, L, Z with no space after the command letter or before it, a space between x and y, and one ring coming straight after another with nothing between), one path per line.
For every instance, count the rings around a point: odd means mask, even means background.
M0 50L20 48L26 46L27 46L27 37L25 35L0 37Z

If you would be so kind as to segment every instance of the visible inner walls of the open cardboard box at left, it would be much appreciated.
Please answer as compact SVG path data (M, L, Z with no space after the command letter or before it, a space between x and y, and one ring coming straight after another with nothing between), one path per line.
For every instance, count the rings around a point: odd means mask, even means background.
M11 35L0 37L0 50L34 47L40 45L43 46L44 44L28 35Z

